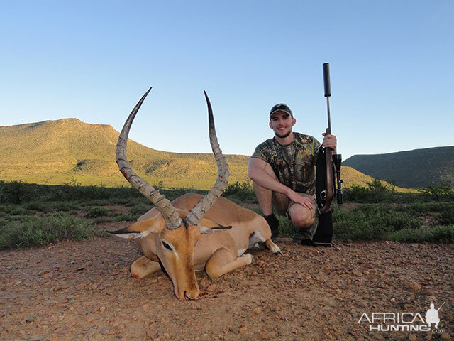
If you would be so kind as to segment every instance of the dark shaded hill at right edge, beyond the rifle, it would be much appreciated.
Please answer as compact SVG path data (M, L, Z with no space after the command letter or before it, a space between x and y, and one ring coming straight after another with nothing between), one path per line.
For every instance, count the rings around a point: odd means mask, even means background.
M343 163L380 180L406 188L449 183L454 186L454 146L377 155L354 155Z

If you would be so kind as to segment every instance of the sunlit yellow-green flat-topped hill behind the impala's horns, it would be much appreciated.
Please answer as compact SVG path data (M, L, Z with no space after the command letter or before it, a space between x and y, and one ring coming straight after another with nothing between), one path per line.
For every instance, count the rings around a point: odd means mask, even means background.
M118 131L79 119L0 126L0 180L60 185L128 185L118 171L115 148ZM222 141L220 141L222 147ZM131 167L152 185L209 189L217 177L209 153L170 153L128 141ZM248 181L248 156L226 155L229 183ZM371 181L352 168L343 168L345 188Z

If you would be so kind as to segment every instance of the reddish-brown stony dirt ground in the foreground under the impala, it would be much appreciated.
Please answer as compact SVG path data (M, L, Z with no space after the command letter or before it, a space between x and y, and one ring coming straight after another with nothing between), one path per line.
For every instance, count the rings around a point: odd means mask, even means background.
M116 224L111 229L122 227ZM454 245L343 243L253 264L179 301L161 272L135 280L131 240L94 237L0 252L0 340L451 340ZM370 331L372 313L438 310L438 330ZM377 325L377 321L375 321ZM391 323L391 322L389 322ZM402 323L401 323L402 324ZM417 320L413 325L420 325Z

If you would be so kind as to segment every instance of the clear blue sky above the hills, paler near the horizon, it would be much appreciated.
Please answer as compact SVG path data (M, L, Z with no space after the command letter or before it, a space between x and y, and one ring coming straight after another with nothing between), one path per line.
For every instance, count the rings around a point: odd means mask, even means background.
M209 153L206 104L224 153L331 124L343 158L454 145L454 1L3 1L0 125L76 117L130 137Z

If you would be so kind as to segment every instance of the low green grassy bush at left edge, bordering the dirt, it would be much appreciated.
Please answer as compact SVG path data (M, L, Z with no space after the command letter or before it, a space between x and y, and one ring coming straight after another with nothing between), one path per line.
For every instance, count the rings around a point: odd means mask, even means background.
M43 217L22 217L0 222L0 249L43 246L65 239L80 240L101 235L89 220L62 213Z

